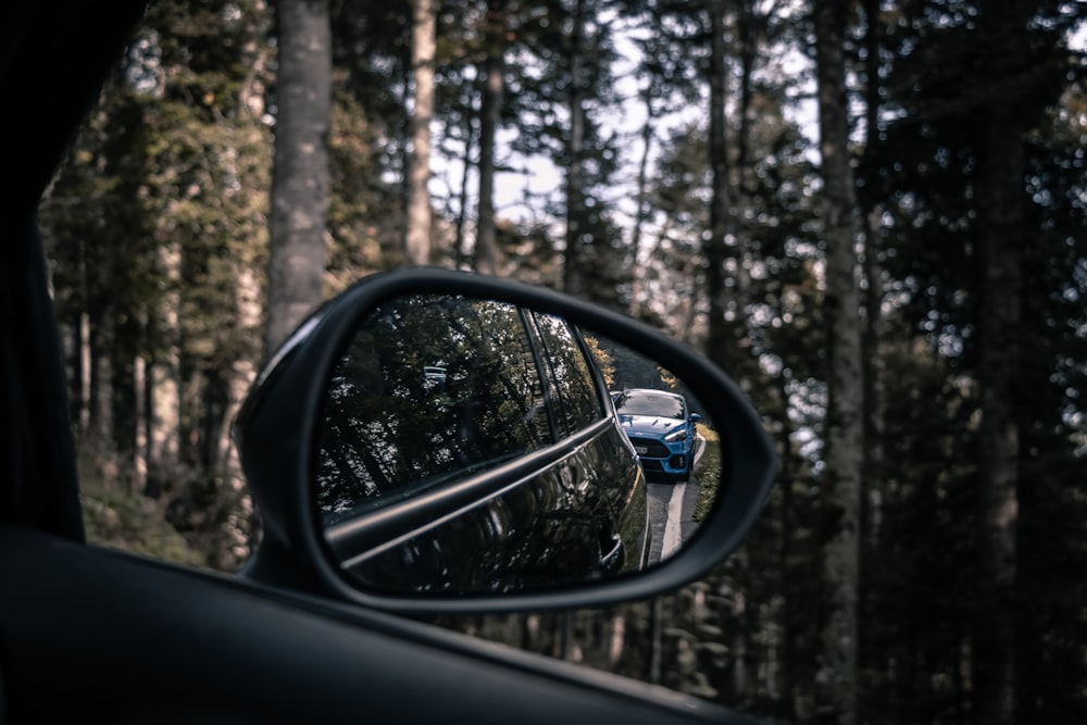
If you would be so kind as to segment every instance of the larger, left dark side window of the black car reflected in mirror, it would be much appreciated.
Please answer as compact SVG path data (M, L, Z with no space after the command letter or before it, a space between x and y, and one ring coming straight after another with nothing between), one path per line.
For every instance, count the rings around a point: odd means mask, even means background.
M551 445L522 313L450 296L377 308L333 370L318 436L326 523Z

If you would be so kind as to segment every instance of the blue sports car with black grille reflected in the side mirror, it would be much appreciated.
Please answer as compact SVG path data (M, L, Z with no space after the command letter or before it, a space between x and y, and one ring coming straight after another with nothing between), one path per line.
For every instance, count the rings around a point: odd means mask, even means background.
M702 420L675 392L635 388L612 393L620 424L648 480L686 483L695 455L695 425Z

